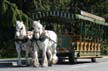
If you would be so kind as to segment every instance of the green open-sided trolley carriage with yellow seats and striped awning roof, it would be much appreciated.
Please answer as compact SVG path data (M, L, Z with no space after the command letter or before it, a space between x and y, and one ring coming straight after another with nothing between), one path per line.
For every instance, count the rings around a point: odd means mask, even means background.
M70 63L76 63L79 58L95 62L101 58L103 27L107 26L104 18L85 11L39 11L33 12L32 18L57 33L59 62L69 59Z

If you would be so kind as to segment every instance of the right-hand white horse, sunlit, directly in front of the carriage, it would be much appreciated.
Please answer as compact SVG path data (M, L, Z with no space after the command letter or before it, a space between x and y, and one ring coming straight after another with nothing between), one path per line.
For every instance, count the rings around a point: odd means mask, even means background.
M56 46L57 46L57 35L55 32L50 30L45 30L45 28L40 24L40 21L33 22L33 65L38 67L40 65L38 59L38 50L42 50L42 66L47 67L48 62L55 64L58 61L56 56ZM46 53L48 53L49 61Z

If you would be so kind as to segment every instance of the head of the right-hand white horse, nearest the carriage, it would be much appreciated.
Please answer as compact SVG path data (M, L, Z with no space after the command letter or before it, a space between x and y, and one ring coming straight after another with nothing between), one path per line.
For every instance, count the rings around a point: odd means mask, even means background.
M40 20L33 22L33 29L34 29L34 37L36 39L40 39L41 35L43 34L45 30L43 25L40 23Z

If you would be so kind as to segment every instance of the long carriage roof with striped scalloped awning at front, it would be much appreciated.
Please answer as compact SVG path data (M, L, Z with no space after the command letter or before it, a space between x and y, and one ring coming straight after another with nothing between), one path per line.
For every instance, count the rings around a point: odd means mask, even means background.
M87 20L90 22L93 22L95 24L104 25L107 26L108 23L105 22L105 19L99 16L96 16L94 14L80 11L80 13L71 13L71 12L65 12L65 11L39 11L39 12L33 12L32 18L33 20L41 19L43 17L59 17L59 18L66 18L74 21L75 19L81 19L81 20Z

